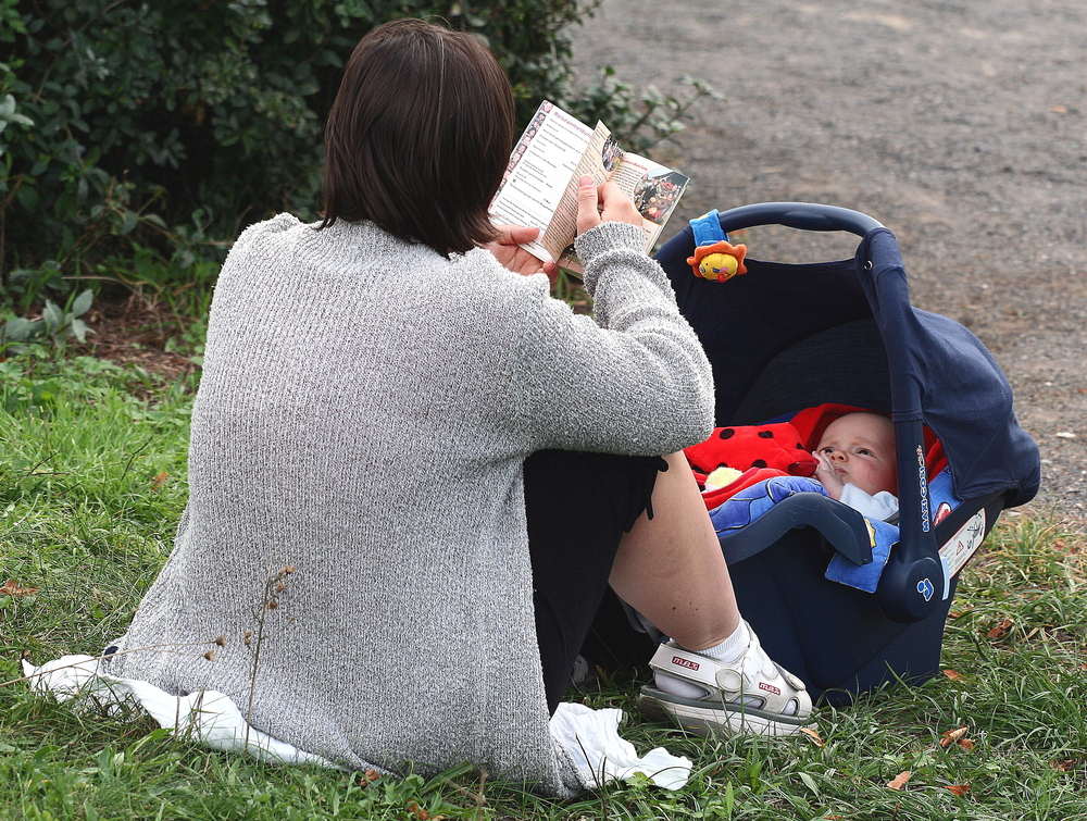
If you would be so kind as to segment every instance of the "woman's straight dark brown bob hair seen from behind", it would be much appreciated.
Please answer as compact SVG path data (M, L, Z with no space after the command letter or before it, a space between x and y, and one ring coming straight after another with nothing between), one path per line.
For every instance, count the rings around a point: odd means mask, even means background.
M370 220L439 253L495 236L513 95L475 37L398 20L351 52L325 126L321 227Z

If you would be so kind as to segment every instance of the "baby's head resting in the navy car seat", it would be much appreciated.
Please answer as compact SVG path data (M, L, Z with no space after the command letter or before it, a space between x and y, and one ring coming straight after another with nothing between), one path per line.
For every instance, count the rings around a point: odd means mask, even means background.
M820 438L824 453L842 482L876 494L898 490L895 426L877 413L847 413L827 425Z

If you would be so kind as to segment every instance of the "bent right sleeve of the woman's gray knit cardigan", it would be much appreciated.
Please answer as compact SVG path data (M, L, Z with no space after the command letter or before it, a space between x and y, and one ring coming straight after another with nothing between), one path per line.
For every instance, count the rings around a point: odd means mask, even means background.
M535 449L651 456L710 435L710 363L641 241L622 223L578 237L592 318L534 291L515 384Z

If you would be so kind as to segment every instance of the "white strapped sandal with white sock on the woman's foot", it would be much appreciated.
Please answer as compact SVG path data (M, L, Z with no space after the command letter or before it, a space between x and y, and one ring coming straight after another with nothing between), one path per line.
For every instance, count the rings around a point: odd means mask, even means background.
M748 632L747 649L728 663L675 642L658 647L649 662L653 672L696 685L704 695L685 697L646 685L638 698L642 712L672 719L700 735L795 735L808 726L812 699L804 683L774 663L750 626Z

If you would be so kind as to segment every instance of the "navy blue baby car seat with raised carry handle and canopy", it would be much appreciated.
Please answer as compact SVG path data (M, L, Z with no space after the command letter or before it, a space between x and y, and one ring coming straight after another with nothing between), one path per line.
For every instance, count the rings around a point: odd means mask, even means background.
M712 212L711 212L712 213ZM771 657L812 696L844 704L884 683L938 671L963 562L1000 512L1038 489L1039 457L1019 426L1008 381L966 328L910 303L891 233L862 213L772 202L719 214L724 232L780 224L861 237L852 259L780 264L748 258L724 283L696 277L688 226L658 260L713 366L716 424L759 424L823 402L889 412L899 477L899 540L874 593L827 581L835 553L872 559L861 514L798 494L722 537L740 612ZM940 515L923 426L948 459Z

